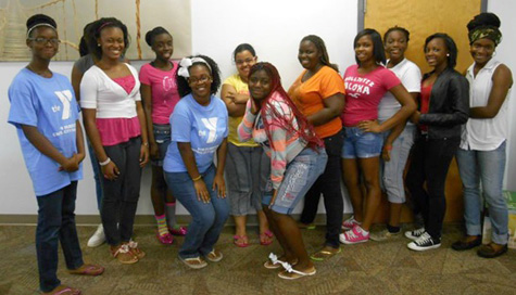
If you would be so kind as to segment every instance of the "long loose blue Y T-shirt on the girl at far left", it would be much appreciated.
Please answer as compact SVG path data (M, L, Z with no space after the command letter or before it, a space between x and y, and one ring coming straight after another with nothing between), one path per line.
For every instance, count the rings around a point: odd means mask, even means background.
M53 73L51 78L43 78L23 68L9 87L9 101L8 121L16 127L36 195L55 192L71 181L81 179L81 166L75 172L59 171L60 164L41 154L27 140L21 126L37 127L65 157L77 153L78 105L68 79L58 73Z

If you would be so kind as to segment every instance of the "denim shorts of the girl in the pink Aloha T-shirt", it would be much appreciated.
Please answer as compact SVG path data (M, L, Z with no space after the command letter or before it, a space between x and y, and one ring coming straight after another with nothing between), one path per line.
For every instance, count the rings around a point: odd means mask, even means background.
M342 158L368 158L381 154L381 133L364 132L358 127L344 127Z

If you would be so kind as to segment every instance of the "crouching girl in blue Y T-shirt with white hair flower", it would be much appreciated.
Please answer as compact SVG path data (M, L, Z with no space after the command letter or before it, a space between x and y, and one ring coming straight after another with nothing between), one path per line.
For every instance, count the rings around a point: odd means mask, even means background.
M214 95L221 86L214 61L203 55L183 59L177 73L183 99L171 116L172 142L163 170L172 194L192 217L179 259L198 269L207 265L204 258L223 258L214 245L229 215L224 182L228 114Z

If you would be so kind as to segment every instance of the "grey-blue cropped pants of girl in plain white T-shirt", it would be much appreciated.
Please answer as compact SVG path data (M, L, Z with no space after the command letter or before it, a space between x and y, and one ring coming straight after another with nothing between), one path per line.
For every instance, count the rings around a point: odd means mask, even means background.
M380 161L380 185L387 192L387 200L390 203L405 203L405 185L403 183L403 171L405 170L406 159L414 144L414 134L416 127L414 125L405 126L403 132L392 142L390 161ZM383 132L383 141L389 137L390 131Z

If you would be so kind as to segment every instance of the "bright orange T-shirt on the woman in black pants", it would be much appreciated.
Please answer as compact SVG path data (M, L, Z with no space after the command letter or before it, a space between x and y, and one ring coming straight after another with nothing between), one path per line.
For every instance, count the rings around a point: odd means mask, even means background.
M306 73L303 70L289 89L289 95L299 111L310 116L323 110L323 100L337 94L345 94L344 80L339 73L329 66L323 66L314 76L302 82L301 78ZM343 98L342 98L343 99ZM315 133L324 139L331 137L342 129L342 121L337 116L328 123L315 126Z

